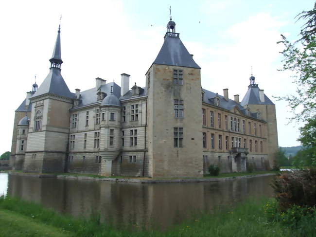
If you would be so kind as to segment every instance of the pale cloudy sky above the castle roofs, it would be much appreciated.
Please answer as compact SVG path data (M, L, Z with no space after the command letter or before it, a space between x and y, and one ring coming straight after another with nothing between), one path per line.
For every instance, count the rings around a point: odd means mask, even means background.
M298 38L294 17L314 0L10 0L0 3L2 102L0 154L11 149L14 111L49 73L59 16L62 75L70 89L95 86L95 78L145 86L144 74L163 43L169 6L176 31L202 68L203 88L229 98L249 84L251 66L260 89L276 104L280 146L298 146L298 124L273 96L294 93L291 73L281 68L280 34Z

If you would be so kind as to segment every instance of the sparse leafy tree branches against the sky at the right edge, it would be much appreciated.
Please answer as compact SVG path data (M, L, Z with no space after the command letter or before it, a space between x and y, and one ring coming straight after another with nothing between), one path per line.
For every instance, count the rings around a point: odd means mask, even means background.
M277 97L288 102L294 115L291 121L303 121L316 116L316 3L314 9L303 11L298 20L306 20L299 33L299 39L291 43L285 36L278 43L284 45L281 52L284 59L281 71L295 73L294 83L297 84L296 95Z

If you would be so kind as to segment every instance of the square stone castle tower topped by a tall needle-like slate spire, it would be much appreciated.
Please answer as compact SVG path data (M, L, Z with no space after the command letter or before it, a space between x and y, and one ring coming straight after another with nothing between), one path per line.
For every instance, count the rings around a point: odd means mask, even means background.
M25 172L63 172L68 149L69 109L74 94L61 75L60 25L50 72L30 98L32 112L25 152ZM37 90L36 90L37 89Z

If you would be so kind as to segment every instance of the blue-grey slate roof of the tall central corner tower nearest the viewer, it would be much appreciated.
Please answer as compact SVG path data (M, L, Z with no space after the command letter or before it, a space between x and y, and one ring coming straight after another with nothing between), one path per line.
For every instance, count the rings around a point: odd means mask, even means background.
M153 64L201 69L199 65L194 62L192 55L189 54L180 38L168 36L168 32Z

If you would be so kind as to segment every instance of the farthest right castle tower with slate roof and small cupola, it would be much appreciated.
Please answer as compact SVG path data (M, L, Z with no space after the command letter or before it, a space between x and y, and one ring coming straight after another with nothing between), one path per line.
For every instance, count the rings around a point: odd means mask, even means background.
M249 78L250 84L241 105L250 111L257 111L260 119L266 121L266 138L267 144L265 150L268 155L270 168L273 167L275 161L275 153L278 151L278 128L275 104L259 89L256 84L256 78L251 74Z

